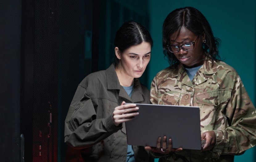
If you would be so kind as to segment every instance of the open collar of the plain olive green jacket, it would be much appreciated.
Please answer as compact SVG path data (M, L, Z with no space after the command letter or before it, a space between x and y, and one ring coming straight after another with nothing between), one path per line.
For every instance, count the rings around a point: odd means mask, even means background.
M132 100L132 102L141 102L144 100L143 94L142 94L142 87L138 78L134 79L134 89L131 97L132 99L130 99L129 95L126 93L124 88L120 85L114 64L111 64L109 68L106 69L106 78L107 78L107 89L119 90L120 97Z

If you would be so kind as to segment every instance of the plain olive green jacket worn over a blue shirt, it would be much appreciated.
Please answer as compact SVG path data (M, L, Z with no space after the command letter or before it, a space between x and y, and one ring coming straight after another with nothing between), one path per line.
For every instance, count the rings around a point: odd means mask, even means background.
M65 120L64 140L69 146L81 149L84 161L126 161L125 123L115 126L112 122L114 108L122 101L150 103L150 93L134 79L130 98L120 85L113 64L86 76L79 84ZM144 147L133 146L133 149L136 161L148 161Z

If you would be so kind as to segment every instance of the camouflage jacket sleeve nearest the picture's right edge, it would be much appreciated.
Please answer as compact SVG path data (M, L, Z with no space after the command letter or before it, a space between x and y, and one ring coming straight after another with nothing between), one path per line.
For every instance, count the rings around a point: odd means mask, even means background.
M256 110L238 75L225 111L229 127L214 130L217 139L213 153L240 155L256 144Z

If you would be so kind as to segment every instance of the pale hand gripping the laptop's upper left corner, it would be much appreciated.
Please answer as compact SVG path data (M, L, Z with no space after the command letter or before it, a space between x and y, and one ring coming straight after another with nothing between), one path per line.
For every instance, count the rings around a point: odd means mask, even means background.
M139 108L136 107L136 104L124 104L123 101L120 106L115 107L115 110L112 115L112 120L114 125L118 126L123 122L130 121L134 116L138 115Z

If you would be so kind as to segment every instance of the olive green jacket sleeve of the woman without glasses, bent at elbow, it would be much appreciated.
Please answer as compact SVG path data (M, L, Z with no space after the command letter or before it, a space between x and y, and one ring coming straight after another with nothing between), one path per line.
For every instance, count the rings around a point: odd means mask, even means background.
M122 128L114 125L111 115L97 119L94 105L97 103L93 103L86 89L78 86L64 127L64 141L75 149L90 147Z

